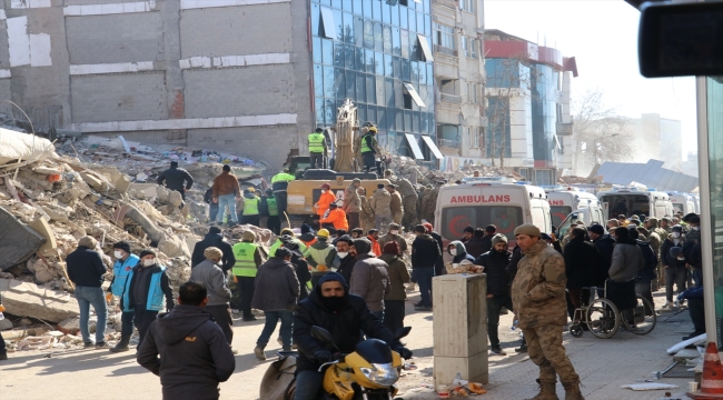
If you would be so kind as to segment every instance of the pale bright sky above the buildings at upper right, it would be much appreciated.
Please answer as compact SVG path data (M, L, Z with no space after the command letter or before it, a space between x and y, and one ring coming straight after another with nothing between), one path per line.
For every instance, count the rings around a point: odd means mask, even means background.
M660 113L683 127L683 157L697 151L694 78L647 79L637 67L640 12L623 0L485 0L485 28L575 57L573 96L601 88L620 114ZM538 39L539 38L539 39ZM574 98L573 98L574 101Z

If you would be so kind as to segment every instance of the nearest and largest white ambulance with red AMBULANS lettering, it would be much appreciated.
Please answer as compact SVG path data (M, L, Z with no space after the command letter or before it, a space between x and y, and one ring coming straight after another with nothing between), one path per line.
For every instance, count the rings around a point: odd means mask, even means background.
M542 188L497 178L442 187L435 221L445 246L459 240L467 227L494 224L511 246L515 228L523 223L533 223L543 232L552 229L549 203Z

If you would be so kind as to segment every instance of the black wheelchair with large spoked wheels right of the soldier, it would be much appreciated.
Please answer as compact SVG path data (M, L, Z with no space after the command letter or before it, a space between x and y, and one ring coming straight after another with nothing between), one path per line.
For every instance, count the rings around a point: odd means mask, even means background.
M657 322L655 307L635 293L635 280L607 280L604 288L582 288L581 297L582 304L575 309L570 326L574 338L582 337L585 327L593 336L610 339L621 324L632 333L647 334Z

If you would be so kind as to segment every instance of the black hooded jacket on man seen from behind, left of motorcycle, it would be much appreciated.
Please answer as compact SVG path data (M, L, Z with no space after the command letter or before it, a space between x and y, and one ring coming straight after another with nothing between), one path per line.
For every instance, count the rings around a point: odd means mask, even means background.
M218 383L236 369L231 348L211 314L185 304L158 316L136 359L160 377L164 399L218 399Z

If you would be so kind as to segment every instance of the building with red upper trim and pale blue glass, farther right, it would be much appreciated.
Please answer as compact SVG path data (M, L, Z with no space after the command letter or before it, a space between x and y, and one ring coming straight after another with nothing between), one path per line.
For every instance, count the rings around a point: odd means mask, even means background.
M484 39L486 162L514 170L535 184L554 184L570 162L565 138L572 136L575 58L498 30L486 30Z

